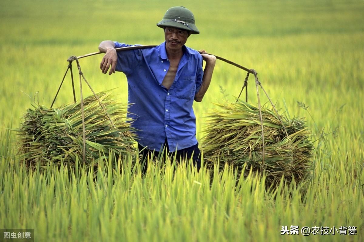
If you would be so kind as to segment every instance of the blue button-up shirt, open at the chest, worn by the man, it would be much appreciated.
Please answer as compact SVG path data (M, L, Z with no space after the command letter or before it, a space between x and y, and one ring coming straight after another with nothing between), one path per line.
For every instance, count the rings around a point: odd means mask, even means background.
M115 43L115 48L133 46ZM162 81L169 68L166 43L154 48L118 52L116 71L128 80L128 117L134 121L138 142L159 151L167 138L169 150L197 144L192 104L202 84L202 56L183 46L183 56L169 89Z

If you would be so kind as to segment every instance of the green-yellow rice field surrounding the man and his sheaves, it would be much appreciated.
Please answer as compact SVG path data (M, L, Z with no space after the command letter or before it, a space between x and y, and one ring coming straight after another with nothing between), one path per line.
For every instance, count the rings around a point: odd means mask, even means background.
M99 162L95 179L81 167L27 171L11 130L32 104L50 107L67 58L102 40L158 45L155 24L176 5L201 32L188 47L255 69L281 112L305 117L315 140L308 179L267 189L264 174L183 166L151 166L142 177L132 154ZM35 241L364 241L363 0L2 0L0 19L0 229L34 229ZM80 59L82 72L96 92L114 88L126 103L125 75L102 74L101 59ZM73 72L79 100L75 63ZM207 116L238 96L245 76L217 60L194 103L200 144ZM248 94L257 105L253 76ZM55 106L72 101L67 74Z

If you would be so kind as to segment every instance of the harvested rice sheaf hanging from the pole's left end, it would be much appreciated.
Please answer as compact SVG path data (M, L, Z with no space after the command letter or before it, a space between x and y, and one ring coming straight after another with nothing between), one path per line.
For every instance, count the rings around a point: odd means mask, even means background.
M134 150L134 130L126 117L126 104L116 101L110 92L97 94L114 127L98 100L84 98L86 166L99 158L123 156ZM27 110L18 130L20 153L25 164L35 167L53 161L71 166L83 161L83 129L80 101L59 108L35 106ZM101 154L101 156L100 156Z

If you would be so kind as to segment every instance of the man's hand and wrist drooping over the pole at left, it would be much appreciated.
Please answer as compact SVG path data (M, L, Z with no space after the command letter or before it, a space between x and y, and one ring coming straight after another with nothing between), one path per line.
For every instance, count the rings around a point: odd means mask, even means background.
M110 68L109 75L115 73L116 63L118 62L118 54L116 54L115 43L111 40L104 40L99 45L99 51L105 53L100 63L102 73L106 74Z

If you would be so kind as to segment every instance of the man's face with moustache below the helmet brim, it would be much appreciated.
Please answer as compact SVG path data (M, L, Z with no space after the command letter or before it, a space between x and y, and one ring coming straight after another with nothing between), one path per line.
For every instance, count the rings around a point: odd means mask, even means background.
M166 48L182 49L182 46L186 44L187 38L189 37L189 32L184 29L166 27L164 29L164 37L166 40Z

